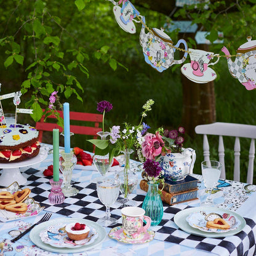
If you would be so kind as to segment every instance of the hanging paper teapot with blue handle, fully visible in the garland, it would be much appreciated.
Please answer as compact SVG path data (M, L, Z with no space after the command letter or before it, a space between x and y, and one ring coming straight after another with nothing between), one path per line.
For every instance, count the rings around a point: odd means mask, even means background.
M142 20L140 45L142 46L146 63L151 65L157 71L162 72L174 64L181 64L185 62L186 56L188 55L188 45L184 39L178 40L175 47L179 47L180 44L183 44L186 52L180 60L174 60L175 48L172 47L172 39L164 33L162 28L161 30L153 28L153 33L145 33L145 17L143 17Z

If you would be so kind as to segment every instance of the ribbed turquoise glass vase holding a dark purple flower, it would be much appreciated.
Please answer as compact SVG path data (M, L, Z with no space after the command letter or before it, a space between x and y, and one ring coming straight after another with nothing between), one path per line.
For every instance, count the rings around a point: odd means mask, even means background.
M164 207L158 193L158 183L148 182L148 193L146 193L142 208L145 210L145 215L151 218L151 226L156 226L161 222Z

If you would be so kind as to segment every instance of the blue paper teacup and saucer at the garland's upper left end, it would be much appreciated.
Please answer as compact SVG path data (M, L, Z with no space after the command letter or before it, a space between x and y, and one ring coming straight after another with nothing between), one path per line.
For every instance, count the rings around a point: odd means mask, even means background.
M136 27L134 25L134 18L140 15L140 12L128 0L119 1L122 2L122 8L119 6L113 7L114 17L116 22L121 28L131 34L136 33Z

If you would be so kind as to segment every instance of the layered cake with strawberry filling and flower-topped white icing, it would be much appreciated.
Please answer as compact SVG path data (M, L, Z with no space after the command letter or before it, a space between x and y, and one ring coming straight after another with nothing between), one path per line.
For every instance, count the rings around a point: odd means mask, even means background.
M29 124L0 126L0 163L20 162L37 156L38 134Z

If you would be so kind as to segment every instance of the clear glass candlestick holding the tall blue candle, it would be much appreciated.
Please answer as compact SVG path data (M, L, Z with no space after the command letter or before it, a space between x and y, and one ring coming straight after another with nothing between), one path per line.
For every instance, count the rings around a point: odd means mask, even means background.
M78 189L71 186L71 178L73 174L74 166L76 165L77 159L74 152L71 150L70 153L65 153L63 150L60 156L60 170L63 175L63 188L62 192L65 196L75 196L78 194Z

